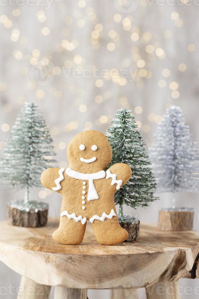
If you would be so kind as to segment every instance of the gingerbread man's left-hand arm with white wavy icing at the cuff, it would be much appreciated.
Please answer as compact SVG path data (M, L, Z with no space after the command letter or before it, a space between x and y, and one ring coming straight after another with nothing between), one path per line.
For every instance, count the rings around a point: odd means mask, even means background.
M41 183L47 189L60 192L61 181L64 179L64 168L54 167L44 170L41 174Z

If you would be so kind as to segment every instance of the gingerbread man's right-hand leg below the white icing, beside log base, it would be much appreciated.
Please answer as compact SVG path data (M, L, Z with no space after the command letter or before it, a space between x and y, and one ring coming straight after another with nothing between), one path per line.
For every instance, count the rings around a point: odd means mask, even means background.
M117 216L106 218L105 221L94 220L92 228L97 242L103 245L119 244L128 237L128 232L120 226Z

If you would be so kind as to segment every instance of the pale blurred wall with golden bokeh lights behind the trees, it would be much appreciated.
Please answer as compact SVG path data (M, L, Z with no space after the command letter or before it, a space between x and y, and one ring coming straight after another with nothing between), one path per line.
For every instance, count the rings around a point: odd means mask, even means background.
M133 110L147 149L172 104L183 109L198 140L198 5L197 0L2 1L0 149L24 101L43 111L57 165L64 168L72 136L89 129L105 133L120 107ZM1 220L7 202L22 196L1 191ZM160 196L147 209L124 211L141 222L156 223L158 209L172 202L170 194ZM59 215L58 194L41 187L32 190L32 199L38 198L51 205L52 216ZM177 200L178 206L195 208L198 230L198 194L180 193ZM17 287L19 280L1 263L1 286ZM197 281L180 283L182 298L190 298L184 287L194 290ZM108 298L109 292L91 290L88 296ZM191 298L197 297L193 291ZM145 298L144 290L139 298Z

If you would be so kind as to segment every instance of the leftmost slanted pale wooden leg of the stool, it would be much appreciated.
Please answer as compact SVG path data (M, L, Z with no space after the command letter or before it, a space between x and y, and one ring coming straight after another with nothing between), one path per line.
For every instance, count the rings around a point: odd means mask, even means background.
M51 286L44 286L32 279L21 278L17 299L48 299Z

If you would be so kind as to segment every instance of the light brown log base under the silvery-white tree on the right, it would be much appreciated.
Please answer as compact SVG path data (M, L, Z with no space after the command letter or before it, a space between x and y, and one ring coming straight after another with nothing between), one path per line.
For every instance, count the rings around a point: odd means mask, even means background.
M191 208L162 209L159 211L158 229L179 231L193 229L194 210Z

